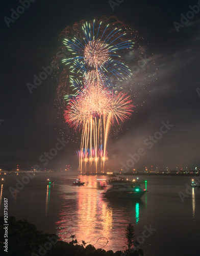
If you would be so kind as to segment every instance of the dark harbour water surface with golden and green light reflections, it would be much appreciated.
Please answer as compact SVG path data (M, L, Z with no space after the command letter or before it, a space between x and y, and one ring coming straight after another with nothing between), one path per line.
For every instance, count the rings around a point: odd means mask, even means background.
M41 184L44 176L46 178L46 174L36 174L29 184L18 192L15 190L12 196L9 187L14 188L16 177L21 180L23 175L9 174L8 185L0 185L0 215L3 215L5 197L9 199L10 216L17 220L27 219L44 233L57 233L66 242L70 241L70 234L76 234L80 243L84 240L99 248L107 240L96 241L105 237L109 240L106 250L123 250L124 232L131 222L135 225L136 237L142 235L144 226L156 228L142 244L145 255L185 256L188 253L183 244L198 251L199 219L196 216L200 214L200 188L193 188L184 203L178 194L185 191L188 177L149 176L148 193L134 201L104 198L106 190L98 189L97 182L105 182L105 178L108 179L105 176L81 176L86 182L82 187L72 186L77 176L48 174L48 178L55 182L51 186ZM176 247L171 253L168 245L174 241Z

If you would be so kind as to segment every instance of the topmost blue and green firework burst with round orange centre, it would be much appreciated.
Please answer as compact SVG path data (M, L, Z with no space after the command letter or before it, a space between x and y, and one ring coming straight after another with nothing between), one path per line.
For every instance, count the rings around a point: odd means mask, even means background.
M123 80L131 75L131 70L124 65L118 53L130 50L135 42L126 38L127 33L122 32L122 24L114 22L107 24L108 20L101 22L80 22L79 29L73 26L65 31L67 38L63 44L71 56L62 60L66 65L71 65L73 73L81 74L91 70L104 73L107 77ZM118 27L117 27L118 26ZM73 31L73 34L72 34ZM77 32L79 31L79 32ZM83 36L80 38L81 31ZM128 33L128 34L129 34Z

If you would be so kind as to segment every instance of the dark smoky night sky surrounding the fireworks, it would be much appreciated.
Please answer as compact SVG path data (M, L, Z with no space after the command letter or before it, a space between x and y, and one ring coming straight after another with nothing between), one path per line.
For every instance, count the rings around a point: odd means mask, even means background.
M120 2L120 1L119 1ZM200 165L199 157L199 13L186 21L179 33L173 23L181 23L181 14L191 11L197 1L124 0L112 10L109 1L39 1L30 3L14 23L7 26L19 1L4 2L1 8L1 109L0 168L60 169L65 164L77 167L78 142L69 141L58 154L43 165L39 158L55 147L62 135L58 129L54 99L55 76L48 75L30 94L26 84L33 83L42 67L49 66L52 52L59 46L58 36L67 26L81 19L116 15L144 38L151 60L132 77L133 102L137 107L123 133L110 141L110 167L126 164L130 154L143 148L144 156L135 163L143 168L153 165L176 168ZM200 2L199 2L200 5ZM190 12L191 14L191 12ZM188 14L188 15L190 15ZM192 15L192 14L191 14ZM148 72L146 73L146 69ZM156 72L156 75L153 75ZM140 84L145 83L145 90ZM142 103L144 101L144 103ZM2 121L4 120L4 121ZM169 120L170 130L151 146L149 136L160 131ZM56 122L56 124L55 124ZM67 134L64 140L67 140ZM113 164L114 163L114 164Z

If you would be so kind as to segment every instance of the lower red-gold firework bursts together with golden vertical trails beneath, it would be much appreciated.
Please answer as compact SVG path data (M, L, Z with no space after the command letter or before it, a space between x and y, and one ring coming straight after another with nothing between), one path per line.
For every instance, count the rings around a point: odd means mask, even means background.
M92 164L95 159L96 170L98 160L102 161L101 168L104 168L106 160L106 144L110 125L115 120L124 121L131 115L133 105L130 96L126 94L110 92L107 88L102 88L99 84L90 84L76 98L72 99L65 111L65 120L74 129L82 129L82 143L79 153L80 168L83 161ZM97 151L99 144L104 140L104 150ZM90 151L86 148L90 146ZM92 146L93 150L92 150Z

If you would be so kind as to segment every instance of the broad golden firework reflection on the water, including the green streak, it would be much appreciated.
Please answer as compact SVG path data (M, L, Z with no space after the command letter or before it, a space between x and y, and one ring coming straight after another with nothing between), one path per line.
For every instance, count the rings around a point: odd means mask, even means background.
M79 243L84 240L96 248L106 244L106 239L96 243L98 238L105 237L109 241L106 248L123 249L127 224L138 224L142 202L104 198L103 193L106 190L97 189L94 177L87 177L87 184L88 186L62 187L63 204L56 223L58 235L69 242L70 235L76 234L75 238Z

